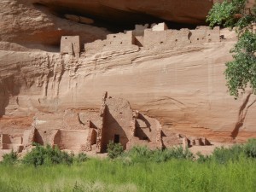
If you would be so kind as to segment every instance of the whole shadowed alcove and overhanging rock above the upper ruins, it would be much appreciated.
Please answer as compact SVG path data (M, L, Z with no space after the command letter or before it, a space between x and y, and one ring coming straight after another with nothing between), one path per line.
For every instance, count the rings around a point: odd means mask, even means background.
M17 15L15 23L5 17L3 24L8 29L1 32L1 38L21 45L15 48L5 44L5 48L57 52L61 36L79 35L81 44L85 44L132 30L138 24L166 22L172 29L193 29L205 24L213 1L13 0L1 4L4 14Z

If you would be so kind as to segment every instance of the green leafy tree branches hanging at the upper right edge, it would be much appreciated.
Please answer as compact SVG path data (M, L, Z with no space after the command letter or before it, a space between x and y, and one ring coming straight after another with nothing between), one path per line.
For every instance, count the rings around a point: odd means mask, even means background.
M230 50L233 61L226 63L224 72L231 96L235 99L244 93L247 86L256 95L256 33L253 23L256 22L256 7L247 9L247 0L224 0L215 3L207 16L211 27L230 27L237 32L238 42Z

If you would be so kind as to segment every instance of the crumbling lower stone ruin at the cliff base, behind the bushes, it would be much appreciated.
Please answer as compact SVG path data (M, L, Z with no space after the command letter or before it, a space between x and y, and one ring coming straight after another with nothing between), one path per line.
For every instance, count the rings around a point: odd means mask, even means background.
M183 144L184 148L211 144L201 137L187 138L179 134L172 134L171 140L165 137L157 119L132 110L125 99L108 96L106 92L99 111L67 109L54 117L50 113L37 113L31 128L22 135L1 134L0 145L2 150L17 152L39 143L75 153L105 153L110 141L120 143L124 149L139 145L155 149L173 144Z

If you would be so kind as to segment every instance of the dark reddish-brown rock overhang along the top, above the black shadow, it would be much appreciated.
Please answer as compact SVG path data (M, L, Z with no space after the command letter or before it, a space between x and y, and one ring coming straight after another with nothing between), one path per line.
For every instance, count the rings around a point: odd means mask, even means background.
M32 0L33 3L42 3L57 12L73 12L81 15L91 15L112 22L125 20L148 20L160 18L179 23L202 24L212 7L210 1L176 1L176 0Z

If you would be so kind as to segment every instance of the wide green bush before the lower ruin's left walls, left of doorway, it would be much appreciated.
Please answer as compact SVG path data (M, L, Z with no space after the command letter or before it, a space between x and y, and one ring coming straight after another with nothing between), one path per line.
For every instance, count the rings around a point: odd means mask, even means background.
M67 164L71 165L73 163L73 155L67 154L67 152L61 151L59 148L52 148L50 145L46 147L39 144L35 144L35 148L27 153L23 158L22 162L24 164L33 166L42 166L44 164Z

